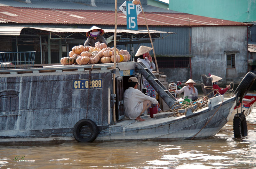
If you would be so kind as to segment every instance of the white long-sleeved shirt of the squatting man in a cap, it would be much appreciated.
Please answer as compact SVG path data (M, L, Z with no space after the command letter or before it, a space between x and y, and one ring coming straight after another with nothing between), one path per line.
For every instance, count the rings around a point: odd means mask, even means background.
M143 109L142 102L145 100L149 100L152 104L158 104L158 101L155 98L145 95L144 93L140 92L140 90L138 89L129 87L127 90L125 90L124 92L125 116L130 119L137 118Z

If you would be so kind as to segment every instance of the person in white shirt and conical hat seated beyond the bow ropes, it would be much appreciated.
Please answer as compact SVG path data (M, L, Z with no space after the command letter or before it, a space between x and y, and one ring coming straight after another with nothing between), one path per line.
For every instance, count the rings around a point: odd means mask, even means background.
M194 82L194 80L188 79L188 81L185 83L186 86L182 87L180 90L169 89L169 92L173 91L178 94L184 92L184 96L188 96L188 99L195 101L198 99L198 92L196 87L194 87L195 84L196 82Z

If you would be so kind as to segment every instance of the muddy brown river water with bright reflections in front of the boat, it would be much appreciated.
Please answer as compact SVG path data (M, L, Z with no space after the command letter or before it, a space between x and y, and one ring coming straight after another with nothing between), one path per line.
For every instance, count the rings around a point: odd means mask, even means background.
M228 122L214 138L203 140L0 146L0 167L256 168L256 107L246 119L248 136L244 138L234 138Z

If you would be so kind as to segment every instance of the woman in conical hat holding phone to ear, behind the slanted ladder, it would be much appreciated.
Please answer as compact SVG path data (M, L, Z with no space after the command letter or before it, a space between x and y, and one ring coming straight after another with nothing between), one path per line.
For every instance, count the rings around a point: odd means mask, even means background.
M147 47L147 46L140 46L138 51L136 52L135 56L138 56L137 62L142 62L148 70L151 72L156 69L155 63L152 61L152 57L149 54L149 52L153 48ZM156 98L156 92L155 89L148 83L145 77L143 77L143 88L147 88L147 95ZM156 107L156 105L152 104L152 107ZM161 109L158 107L158 111L161 111ZM149 113L149 111L148 111Z

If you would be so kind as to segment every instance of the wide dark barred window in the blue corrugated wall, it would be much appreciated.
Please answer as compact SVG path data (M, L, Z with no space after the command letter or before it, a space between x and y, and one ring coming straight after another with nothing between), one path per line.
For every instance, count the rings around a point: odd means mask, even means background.
M189 57L157 57L158 68L189 68Z

